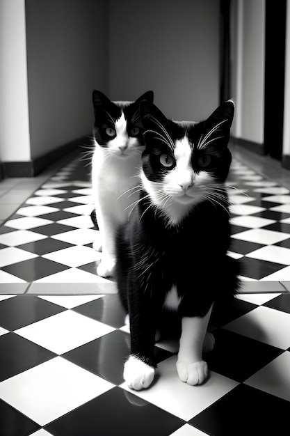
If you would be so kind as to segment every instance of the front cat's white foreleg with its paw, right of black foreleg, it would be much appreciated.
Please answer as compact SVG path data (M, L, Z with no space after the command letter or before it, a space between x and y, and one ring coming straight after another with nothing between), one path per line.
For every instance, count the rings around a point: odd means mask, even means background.
M179 342L177 373L182 382L202 384L208 375L207 363L202 360L202 347L207 333L211 309L200 318L182 318L182 336Z

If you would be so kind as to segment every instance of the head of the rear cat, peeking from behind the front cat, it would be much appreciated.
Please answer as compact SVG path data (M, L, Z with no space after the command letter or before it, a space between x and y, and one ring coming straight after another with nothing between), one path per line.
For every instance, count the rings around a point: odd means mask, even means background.
M94 137L104 153L124 159L143 151L143 125L139 114L142 100L152 102L152 91L141 95L136 102L111 102L100 91L92 93Z

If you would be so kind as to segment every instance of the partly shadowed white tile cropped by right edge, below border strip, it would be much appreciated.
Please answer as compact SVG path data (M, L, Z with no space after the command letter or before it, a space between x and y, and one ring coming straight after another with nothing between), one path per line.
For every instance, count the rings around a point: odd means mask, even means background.
M290 347L290 313L259 306L223 328L274 347Z

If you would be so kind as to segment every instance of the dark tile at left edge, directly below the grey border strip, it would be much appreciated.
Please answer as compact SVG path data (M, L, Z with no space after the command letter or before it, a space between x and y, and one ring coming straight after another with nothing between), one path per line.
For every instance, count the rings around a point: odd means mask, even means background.
M33 295L17 295L1 302L0 326L13 331L63 311L63 307Z

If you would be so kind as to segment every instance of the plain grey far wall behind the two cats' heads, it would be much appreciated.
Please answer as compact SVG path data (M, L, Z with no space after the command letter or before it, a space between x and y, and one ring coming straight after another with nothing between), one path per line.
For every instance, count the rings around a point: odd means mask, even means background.
M113 100L152 89L170 118L200 120L219 104L220 10L216 0L111 0Z

